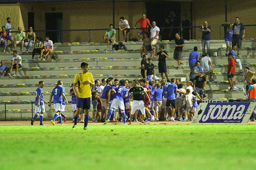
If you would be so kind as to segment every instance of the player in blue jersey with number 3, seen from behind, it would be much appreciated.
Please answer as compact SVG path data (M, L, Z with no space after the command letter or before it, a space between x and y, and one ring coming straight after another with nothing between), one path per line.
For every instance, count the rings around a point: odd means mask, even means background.
M57 82L57 86L52 90L52 94L51 94L50 99L49 99L48 106L51 107L51 101L52 101L52 96L53 96L53 104L54 104L54 108L55 108L55 111L56 111L53 119L51 120L52 125L55 125L55 120L57 118L61 122L61 125L64 125L63 122L62 122L62 118L61 118L62 97L65 99L66 105L68 104L68 102L67 102L67 98L65 96L65 88L62 85L63 85L63 82L61 80L59 80Z

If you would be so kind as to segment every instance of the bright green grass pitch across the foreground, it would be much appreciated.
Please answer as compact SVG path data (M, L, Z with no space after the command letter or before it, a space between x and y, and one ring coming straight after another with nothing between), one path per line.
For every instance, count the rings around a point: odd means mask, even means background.
M255 169L256 125L0 126L1 170Z

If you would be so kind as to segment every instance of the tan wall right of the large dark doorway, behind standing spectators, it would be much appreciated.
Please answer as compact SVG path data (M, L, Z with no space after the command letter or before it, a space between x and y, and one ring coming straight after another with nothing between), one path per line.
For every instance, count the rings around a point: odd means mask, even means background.
M235 17L240 18L240 22L244 25L256 24L256 1L255 0L228 0L227 22L235 23ZM219 25L225 22L225 1L210 0L205 2L192 3L192 26L201 26L204 20L207 20L209 26L212 27L212 40L219 39ZM181 15L187 14L190 20L190 2L181 3ZM182 17L182 16L181 16ZM245 38L255 37L256 27L245 28ZM222 37L224 37L223 30ZM193 29L195 39L201 39L199 28Z

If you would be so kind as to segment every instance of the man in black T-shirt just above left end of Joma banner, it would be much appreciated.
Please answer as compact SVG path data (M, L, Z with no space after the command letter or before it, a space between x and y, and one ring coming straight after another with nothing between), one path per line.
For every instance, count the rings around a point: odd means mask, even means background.
M194 80L194 88L201 98L204 96L204 89L206 86L206 78L203 76L202 71L198 71L198 76Z

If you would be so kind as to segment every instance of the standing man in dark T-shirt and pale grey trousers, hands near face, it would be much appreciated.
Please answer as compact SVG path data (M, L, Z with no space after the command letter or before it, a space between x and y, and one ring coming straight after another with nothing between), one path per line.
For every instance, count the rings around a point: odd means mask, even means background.
M202 48L203 48L203 55L205 55L205 45L207 46L207 53L210 55L210 40L211 40L211 26L208 26L207 21L204 21L204 25L202 25Z

